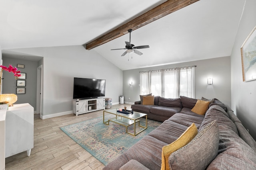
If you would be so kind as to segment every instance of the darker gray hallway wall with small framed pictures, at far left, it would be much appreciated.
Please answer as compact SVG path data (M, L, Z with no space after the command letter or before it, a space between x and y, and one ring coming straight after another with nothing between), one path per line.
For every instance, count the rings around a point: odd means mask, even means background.
M2 93L9 94L13 93L18 96L17 102L14 104L22 104L22 103L29 103L34 110L36 110L36 72L37 72L37 65L38 63L35 61L27 61L27 60L20 60L20 59L13 59L8 56L2 55L3 65L9 66L17 66L17 64L24 64L24 68L18 68L20 72L26 73L26 93L25 94L16 94L16 79L13 76L13 73L10 72L3 72L3 83L2 83ZM22 79L24 80L24 79ZM21 87L23 88L23 87Z

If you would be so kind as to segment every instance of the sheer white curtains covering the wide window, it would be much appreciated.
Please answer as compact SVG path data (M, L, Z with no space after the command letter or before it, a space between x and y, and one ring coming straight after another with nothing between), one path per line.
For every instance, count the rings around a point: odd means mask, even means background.
M140 72L140 95L152 93L164 98L194 98L194 67Z

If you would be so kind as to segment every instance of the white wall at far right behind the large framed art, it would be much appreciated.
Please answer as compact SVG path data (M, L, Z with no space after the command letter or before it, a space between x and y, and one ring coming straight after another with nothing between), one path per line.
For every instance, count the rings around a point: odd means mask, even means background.
M256 139L256 80L243 82L240 48L256 25L256 1L246 0L231 55L231 104L244 127Z

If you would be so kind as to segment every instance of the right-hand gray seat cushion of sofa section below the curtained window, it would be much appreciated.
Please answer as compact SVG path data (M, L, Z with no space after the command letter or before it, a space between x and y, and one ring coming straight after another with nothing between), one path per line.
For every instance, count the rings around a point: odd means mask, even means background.
M171 117L181 111L180 107L155 106L150 108L150 113Z

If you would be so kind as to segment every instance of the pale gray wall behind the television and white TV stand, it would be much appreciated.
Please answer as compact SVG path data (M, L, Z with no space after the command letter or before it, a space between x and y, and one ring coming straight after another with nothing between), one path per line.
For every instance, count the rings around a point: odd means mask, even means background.
M82 45L11 49L43 59L43 115L72 111L74 77L106 79L106 97L112 103L122 95L122 70Z

